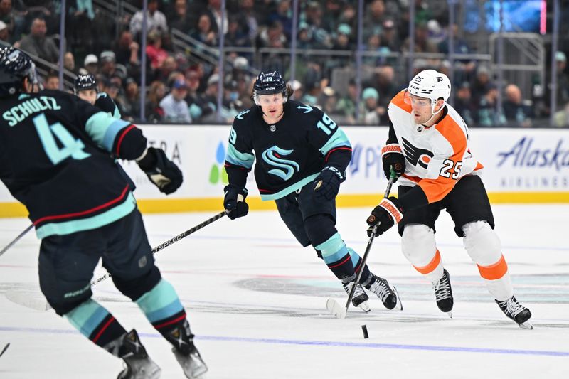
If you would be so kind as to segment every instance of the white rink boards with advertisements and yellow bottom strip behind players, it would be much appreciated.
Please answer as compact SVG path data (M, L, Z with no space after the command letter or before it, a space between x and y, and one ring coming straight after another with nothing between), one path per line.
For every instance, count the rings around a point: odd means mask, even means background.
M142 125L151 146L159 146L184 173L184 184L164 196L129 161L122 166L137 184L135 196L144 213L171 213L222 208L223 169L229 126ZM387 127L346 127L353 157L338 197L339 207L377 203L387 181L381 166L381 146ZM484 165L483 180L492 203L569 203L569 130L471 129L472 154ZM250 208L275 209L260 201L252 175L248 178ZM0 217L26 216L0 186Z

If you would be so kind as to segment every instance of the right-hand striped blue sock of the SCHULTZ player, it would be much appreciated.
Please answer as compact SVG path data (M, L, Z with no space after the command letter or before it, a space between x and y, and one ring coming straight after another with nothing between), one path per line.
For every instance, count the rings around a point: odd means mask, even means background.
M171 341L171 331L184 327L186 311L174 287L164 279L136 301L148 321L164 338Z

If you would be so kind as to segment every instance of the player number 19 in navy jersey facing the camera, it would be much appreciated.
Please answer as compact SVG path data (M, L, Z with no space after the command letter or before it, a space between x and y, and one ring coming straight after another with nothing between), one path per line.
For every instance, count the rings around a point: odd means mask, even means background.
M291 94L280 73L260 73L253 86L255 105L235 117L225 158L229 184L223 205L231 210L229 218L248 213L245 184L257 159L255 181L262 200L277 203L294 237L302 246L317 250L346 292L358 270L364 270L354 306L369 311L365 287L393 309L397 296L387 280L372 274L367 265L361 267L361 257L336 230L336 195L346 179L350 142L327 114L288 100Z

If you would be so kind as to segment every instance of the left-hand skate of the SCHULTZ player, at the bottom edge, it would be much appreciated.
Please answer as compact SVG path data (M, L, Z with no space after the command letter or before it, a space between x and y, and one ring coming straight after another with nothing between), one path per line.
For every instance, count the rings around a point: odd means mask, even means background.
M152 361L140 339L137 331L132 329L122 338L119 352L124 359L125 368L117 379L159 379L160 368ZM124 355L123 355L124 354Z

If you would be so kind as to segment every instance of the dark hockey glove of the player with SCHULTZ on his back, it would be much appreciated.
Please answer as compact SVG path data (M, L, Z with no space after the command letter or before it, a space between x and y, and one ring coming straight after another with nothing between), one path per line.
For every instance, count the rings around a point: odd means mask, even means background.
M184 181L182 171L166 157L162 149L149 147L147 153L137 163L150 181L166 195L175 192Z

